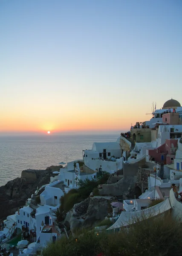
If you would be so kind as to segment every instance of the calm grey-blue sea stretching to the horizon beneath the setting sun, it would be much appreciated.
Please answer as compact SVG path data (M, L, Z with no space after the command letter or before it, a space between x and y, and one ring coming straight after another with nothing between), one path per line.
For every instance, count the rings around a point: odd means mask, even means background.
M26 169L46 169L60 162L83 159L94 142L116 141L115 134L0 136L0 186L21 177Z

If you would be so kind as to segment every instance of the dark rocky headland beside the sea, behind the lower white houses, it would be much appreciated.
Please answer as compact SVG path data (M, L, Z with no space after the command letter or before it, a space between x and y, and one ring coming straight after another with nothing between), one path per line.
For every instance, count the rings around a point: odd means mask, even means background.
M0 187L0 221L8 215L14 214L17 208L23 206L27 198L35 190L50 182L52 172L57 171L62 166L50 166L46 170L24 170L20 178L6 183Z

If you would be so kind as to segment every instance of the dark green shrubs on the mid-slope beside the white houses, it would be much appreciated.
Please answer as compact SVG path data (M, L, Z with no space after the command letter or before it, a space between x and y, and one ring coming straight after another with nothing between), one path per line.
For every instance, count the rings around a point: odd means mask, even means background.
M90 196L90 193L92 191L97 192L98 195L98 189L97 186L99 184L104 184L107 182L109 178L109 174L107 172L103 172L102 175L99 175L97 180L89 180L86 179L84 181L79 180L78 186L79 189L72 189L70 190L64 197L61 197L60 199L60 212L68 212L74 204L78 204L81 201L85 200Z

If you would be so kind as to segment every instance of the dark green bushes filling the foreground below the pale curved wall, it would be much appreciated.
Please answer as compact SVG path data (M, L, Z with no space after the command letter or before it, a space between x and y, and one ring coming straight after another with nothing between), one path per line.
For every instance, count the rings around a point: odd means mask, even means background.
M181 256L181 241L182 222L163 215L119 233L84 231L75 238L60 239L48 244L42 256Z

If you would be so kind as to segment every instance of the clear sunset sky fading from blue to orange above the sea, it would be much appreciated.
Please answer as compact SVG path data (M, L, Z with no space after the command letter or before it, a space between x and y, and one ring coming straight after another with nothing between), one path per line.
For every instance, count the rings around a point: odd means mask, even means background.
M181 0L1 0L0 134L128 131L182 104Z

